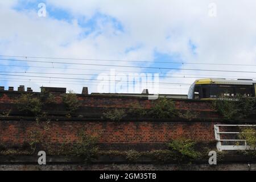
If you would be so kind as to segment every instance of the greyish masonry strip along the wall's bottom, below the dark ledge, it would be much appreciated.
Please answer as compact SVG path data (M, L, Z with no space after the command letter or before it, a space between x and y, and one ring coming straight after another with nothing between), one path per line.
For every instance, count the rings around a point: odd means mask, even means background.
M256 171L256 164L7 164L0 165L0 171Z

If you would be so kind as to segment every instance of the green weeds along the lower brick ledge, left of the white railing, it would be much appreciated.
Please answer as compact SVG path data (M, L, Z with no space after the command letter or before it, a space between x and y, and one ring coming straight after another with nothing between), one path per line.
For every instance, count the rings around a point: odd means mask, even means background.
M19 149L7 149L0 145L0 155L33 155L38 150L44 150L48 155L66 155L81 156L85 163L91 162L92 159L100 155L122 156L128 162L137 162L142 157L151 158L156 163L167 162L183 162L190 163L195 159L199 159L201 154L195 151L194 144L191 140L172 140L168 143L169 150L153 150L153 151L99 151L98 137L85 135L82 131L78 133L79 140L76 143L65 142L61 146L50 146L49 140L46 137L49 130L48 123L40 123L39 130L31 133L30 137L23 146Z

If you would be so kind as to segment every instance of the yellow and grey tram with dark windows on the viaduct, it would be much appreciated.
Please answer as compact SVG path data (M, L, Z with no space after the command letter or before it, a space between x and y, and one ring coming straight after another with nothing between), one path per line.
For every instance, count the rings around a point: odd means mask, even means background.
M189 99L234 98L236 96L255 97L256 80L228 80L206 78L196 80L188 91Z

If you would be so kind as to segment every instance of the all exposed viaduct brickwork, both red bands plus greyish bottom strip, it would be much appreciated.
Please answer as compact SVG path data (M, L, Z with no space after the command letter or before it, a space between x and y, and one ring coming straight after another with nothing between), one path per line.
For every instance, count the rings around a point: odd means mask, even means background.
M10 110L10 117L0 117L0 144L10 148L19 148L31 137L31 131L45 133L42 125L36 125L35 117L22 113L15 107L15 100L19 92L0 92L0 111ZM34 93L39 96L39 93ZM126 118L119 122L112 122L102 118L102 113L110 108L129 108L140 104L145 109L155 105L156 100L141 97L113 97L81 95L77 97L81 107L73 118L66 117L67 111L63 104L63 96L53 93L56 104L44 105L47 118L51 120L47 131L48 144L60 146L63 143L75 143L82 131L86 135L98 137L100 150L137 150L151 151L166 149L166 143L171 139L187 138L202 143L216 144L213 141L214 125L226 124L220 115L213 110L212 101L174 100L176 109L181 113L186 110L196 111L199 115L189 119L154 119L154 118ZM0 113L1 114L1 113ZM81 117L79 117L81 115ZM44 119L40 123L44 123ZM225 128L224 128L225 129ZM223 129L223 130L224 130ZM234 129L233 129L234 130ZM221 130L222 131L222 130ZM26 145L24 145L26 146ZM3 163L9 164L9 163ZM17 165L16 165L17 164ZM255 170L255 164L205 164L192 165L154 165L154 164L103 164L92 165L59 164L37 166L32 164L15 163L0 165L0 170Z

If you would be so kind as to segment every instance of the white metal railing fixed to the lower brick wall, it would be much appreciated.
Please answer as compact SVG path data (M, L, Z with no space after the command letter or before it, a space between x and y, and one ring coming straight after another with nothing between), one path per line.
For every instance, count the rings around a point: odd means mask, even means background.
M240 132L220 131L220 127L256 127L256 125L214 125L215 139L217 140L217 150L254 150L254 148L247 146L246 140L242 139L221 139L221 134L240 134ZM222 142L244 142L244 145L224 145Z

